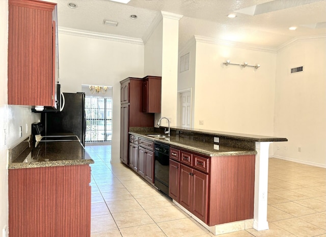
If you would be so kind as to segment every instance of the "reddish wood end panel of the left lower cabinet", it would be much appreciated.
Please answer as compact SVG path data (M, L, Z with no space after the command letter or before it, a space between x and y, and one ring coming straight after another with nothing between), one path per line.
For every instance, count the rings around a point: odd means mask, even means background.
M8 170L10 237L89 237L89 165Z

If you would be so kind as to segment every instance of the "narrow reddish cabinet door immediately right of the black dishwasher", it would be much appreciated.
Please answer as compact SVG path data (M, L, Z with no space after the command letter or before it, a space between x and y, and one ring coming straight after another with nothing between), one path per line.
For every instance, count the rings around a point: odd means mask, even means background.
M179 202L180 163L170 159L169 167L169 196Z

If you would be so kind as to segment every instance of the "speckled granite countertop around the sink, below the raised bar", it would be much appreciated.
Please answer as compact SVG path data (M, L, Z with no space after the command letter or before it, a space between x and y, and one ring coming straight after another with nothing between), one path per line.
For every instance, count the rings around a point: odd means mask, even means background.
M166 143L169 145L174 145L181 147L187 151L196 152L205 156L236 156L236 155L255 155L257 154L254 150L247 150L243 148L233 147L233 146L226 146L226 145L219 145L219 150L214 149L213 142L203 142L198 141L192 137L188 136L180 136L180 135L173 135L169 138L153 138L149 137L146 134L153 134L149 133L149 131L133 131L129 132L129 134L145 138L151 141L159 141L161 143Z

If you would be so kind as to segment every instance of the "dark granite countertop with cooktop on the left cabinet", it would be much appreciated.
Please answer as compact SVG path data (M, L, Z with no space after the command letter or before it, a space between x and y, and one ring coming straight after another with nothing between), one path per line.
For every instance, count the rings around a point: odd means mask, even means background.
M29 139L9 149L8 169L93 164L84 146L75 141L40 142Z

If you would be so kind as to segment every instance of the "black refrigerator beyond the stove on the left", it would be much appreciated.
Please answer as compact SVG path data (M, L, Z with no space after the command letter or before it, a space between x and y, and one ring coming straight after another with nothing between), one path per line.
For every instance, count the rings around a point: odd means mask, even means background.
M86 114L85 93L63 93L64 108L60 112L42 113L45 135L74 133L85 146Z

